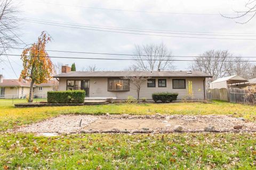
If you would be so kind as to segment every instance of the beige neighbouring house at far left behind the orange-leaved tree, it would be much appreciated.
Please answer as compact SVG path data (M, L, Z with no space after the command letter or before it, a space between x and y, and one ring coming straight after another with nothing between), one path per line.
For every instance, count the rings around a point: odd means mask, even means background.
M0 98L26 98L29 95L30 82L17 79L3 79L0 75ZM34 85L34 96L46 98L47 91L55 90L55 81Z

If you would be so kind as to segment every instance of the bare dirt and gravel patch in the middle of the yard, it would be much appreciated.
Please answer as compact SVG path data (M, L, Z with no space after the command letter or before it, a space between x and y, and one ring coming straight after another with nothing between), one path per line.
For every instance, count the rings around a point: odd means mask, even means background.
M81 121L82 120L82 121ZM242 129L234 129L240 125ZM256 124L242 118L225 115L61 115L42 122L23 126L9 132L32 133L165 133L256 131Z

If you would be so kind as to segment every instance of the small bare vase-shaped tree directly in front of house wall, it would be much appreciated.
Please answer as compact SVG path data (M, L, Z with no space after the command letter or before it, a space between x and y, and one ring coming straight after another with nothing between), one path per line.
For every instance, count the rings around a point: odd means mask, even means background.
M137 101L140 99L140 89L142 83L146 80L150 79L149 77L143 77L140 75L132 76L132 77L123 77L123 80L128 80L131 84L133 84L134 89L137 91Z

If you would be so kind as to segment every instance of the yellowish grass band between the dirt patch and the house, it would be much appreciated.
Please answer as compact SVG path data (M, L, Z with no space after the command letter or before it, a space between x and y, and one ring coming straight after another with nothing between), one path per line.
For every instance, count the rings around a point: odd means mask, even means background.
M14 103L25 100L14 100ZM59 114L235 114L256 120L256 107L242 104L231 104L214 101L212 104L203 103L170 103L170 104L110 104L98 106L63 106L14 108L11 99L0 100L0 131L14 128L17 125L29 124L44 120Z

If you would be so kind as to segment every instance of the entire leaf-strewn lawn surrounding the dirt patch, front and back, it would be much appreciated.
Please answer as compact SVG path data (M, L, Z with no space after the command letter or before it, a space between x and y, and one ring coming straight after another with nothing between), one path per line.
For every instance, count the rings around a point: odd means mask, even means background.
M20 103L24 100L14 100ZM0 100L3 169L253 169L256 133L69 134L36 137L4 130L60 114L234 114L256 120L255 106L214 101L14 108ZM2 132L1 132L2 131Z

